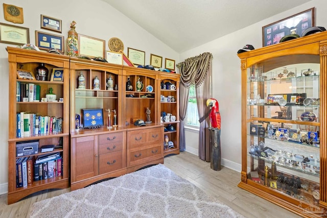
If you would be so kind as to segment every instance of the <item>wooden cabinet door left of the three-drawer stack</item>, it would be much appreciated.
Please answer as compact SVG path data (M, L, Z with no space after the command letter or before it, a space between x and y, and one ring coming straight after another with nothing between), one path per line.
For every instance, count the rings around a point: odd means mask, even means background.
M79 181L99 174L99 155L96 137L83 136L73 139L72 181Z

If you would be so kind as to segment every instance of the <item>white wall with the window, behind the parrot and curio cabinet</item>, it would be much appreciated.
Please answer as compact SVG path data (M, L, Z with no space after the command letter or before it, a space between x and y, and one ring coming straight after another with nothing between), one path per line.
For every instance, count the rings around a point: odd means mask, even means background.
M241 171L241 62L237 51L245 44L259 49L262 47L263 26L313 7L316 8L315 26L327 28L327 14L324 12L327 1L314 0L180 54L181 61L204 52L213 54L213 98L219 102L222 120L222 165ZM192 130L186 130L185 135L186 138L192 137L186 141L186 151L198 155L198 138L194 138Z

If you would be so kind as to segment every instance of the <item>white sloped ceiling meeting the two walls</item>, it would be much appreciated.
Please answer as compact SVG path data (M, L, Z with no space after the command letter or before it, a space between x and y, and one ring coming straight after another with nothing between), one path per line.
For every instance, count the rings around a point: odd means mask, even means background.
M178 53L308 0L102 0Z

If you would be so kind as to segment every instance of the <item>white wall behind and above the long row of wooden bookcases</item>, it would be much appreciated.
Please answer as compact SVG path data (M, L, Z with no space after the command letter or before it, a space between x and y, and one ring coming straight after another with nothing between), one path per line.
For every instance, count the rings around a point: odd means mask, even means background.
M146 30L136 25L132 20L122 15L110 5L100 0L7 0L0 1L12 4L24 9L24 23L15 24L4 19L4 11L0 10L0 22L26 27L30 29L30 42L35 44L35 30L48 32L55 35L63 35L67 39L70 23L77 22L76 32L106 40L106 50L109 50L108 40L111 37L120 38L125 46L142 50L146 53L145 64L150 64L150 54L156 54L165 58L176 60L179 54L169 46L159 41ZM40 29L41 14L62 20L62 33L56 33ZM0 107L0 194L8 191L8 53L7 46L16 46L0 43L0 93L2 93L2 105Z

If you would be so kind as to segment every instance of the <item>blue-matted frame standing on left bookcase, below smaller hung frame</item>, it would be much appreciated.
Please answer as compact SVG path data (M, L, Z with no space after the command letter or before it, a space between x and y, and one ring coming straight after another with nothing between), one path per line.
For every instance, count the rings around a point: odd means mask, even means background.
M57 49L64 53L64 37L50 33L35 31L36 46L40 50Z

